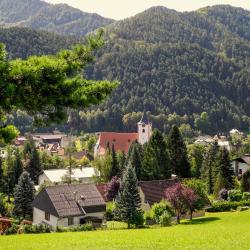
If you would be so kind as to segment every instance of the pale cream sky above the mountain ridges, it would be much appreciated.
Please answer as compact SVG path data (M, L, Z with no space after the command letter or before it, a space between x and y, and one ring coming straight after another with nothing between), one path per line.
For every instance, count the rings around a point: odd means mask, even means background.
M230 4L250 10L250 0L45 0L49 3L67 3L85 12L120 20L133 16L152 6L166 6L178 11L196 10L215 4Z

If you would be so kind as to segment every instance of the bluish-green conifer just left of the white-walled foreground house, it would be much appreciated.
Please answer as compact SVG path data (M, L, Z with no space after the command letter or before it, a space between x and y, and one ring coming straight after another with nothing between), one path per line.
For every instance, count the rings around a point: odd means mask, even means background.
M29 173L24 171L19 178L14 191L14 214L26 218L32 216L31 203L34 199L35 189Z

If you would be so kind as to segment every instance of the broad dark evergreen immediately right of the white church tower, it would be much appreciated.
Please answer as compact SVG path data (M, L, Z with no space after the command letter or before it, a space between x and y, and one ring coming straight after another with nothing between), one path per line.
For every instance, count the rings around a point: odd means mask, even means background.
M162 133L157 129L154 130L149 142L145 145L141 177L143 180L171 177L167 144Z

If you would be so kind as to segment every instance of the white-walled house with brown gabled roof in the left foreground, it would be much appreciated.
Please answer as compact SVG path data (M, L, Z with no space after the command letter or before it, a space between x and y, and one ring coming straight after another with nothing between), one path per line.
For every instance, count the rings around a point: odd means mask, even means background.
M92 223L100 226L106 204L94 184L58 185L43 189L34 199L33 224L53 229Z

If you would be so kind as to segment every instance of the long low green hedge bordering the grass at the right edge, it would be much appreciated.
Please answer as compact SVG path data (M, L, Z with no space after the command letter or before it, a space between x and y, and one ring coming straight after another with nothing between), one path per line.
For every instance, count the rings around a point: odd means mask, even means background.
M236 210L240 206L250 206L250 201L220 201L214 202L208 212L228 212Z

